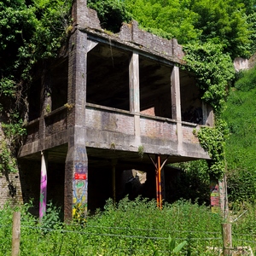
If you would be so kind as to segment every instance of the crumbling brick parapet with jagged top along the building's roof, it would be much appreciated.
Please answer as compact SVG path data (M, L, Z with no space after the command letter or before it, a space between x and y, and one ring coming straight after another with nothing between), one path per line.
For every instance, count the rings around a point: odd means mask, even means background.
M171 57L173 61L183 62L183 49L177 44L177 39L167 40L143 31L138 27L136 20L132 20L129 24L124 23L117 34L107 33L102 29L96 10L87 8L86 2L81 0L77 0L73 5L73 30L75 27L86 32L102 34L102 37L120 41L122 44L131 43L133 47L137 46L138 49L146 50L148 53L158 53L158 55Z

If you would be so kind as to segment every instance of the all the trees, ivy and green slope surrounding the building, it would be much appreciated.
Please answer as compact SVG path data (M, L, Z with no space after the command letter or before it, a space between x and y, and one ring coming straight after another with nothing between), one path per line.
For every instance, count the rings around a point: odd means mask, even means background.
M201 98L212 105L216 127L201 129L202 147L212 156L183 164L184 181L207 188L208 176L226 172L231 202L255 202L256 70L235 73L233 60L256 51L255 0L88 0L102 28L119 32L122 22L183 45L187 68L196 74ZM0 169L15 171L15 152L27 108L26 92L38 62L55 58L72 24L72 1L3 0L0 3L0 111L10 144L1 142ZM196 183L195 183L196 180ZM198 186L200 183L200 186ZM191 195L187 191L186 198ZM202 190L195 198L206 195ZM202 199L203 200L203 199Z

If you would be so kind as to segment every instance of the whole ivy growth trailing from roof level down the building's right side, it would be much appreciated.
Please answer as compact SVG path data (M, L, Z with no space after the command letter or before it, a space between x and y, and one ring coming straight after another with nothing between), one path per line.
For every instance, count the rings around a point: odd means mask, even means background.
M224 173L224 143L229 133L220 114L225 108L228 84L235 77L235 68L230 55L224 54L219 44L189 44L184 50L187 67L195 73L196 83L201 89L201 99L210 104L215 113L215 126L201 127L197 137L212 159L209 174L218 178Z

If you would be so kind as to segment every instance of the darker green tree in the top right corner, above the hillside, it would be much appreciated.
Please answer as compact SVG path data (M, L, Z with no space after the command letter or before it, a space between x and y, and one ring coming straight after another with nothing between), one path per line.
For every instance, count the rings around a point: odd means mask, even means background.
M195 1L191 10L199 15L195 27L201 29L199 39L222 44L232 58L248 54L249 31L244 4L233 0Z

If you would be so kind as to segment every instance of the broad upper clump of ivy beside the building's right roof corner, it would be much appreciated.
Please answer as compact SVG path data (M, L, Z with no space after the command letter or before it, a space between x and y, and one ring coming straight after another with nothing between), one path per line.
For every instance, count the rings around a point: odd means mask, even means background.
M221 44L187 44L184 60L187 68L195 73L201 89L201 99L209 103L214 113L224 110L229 82L235 77L235 68L230 55L223 53Z

